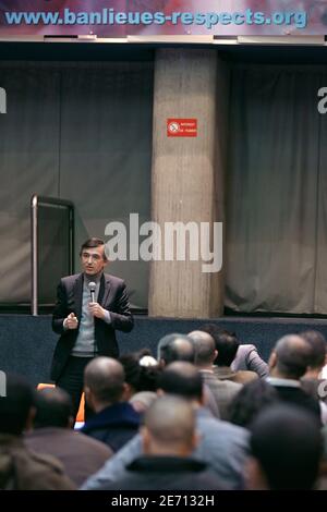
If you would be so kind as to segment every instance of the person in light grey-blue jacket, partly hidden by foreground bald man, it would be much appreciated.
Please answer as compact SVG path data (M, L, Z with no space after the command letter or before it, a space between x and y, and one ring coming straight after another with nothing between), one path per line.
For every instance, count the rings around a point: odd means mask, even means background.
M215 418L203 407L203 380L191 363L175 362L164 369L159 378L159 392L174 394L192 403L196 414L199 443L192 456L208 464L226 489L242 488L243 466L247 456L245 429ZM125 467L142 453L141 436L132 439L105 466L92 476L83 489L109 486L124 475Z

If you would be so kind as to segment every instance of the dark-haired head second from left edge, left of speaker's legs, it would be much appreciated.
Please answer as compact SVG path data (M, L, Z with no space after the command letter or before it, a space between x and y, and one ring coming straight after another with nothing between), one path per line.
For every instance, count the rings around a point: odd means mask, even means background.
M72 427L72 399L60 388L44 388L36 393L34 428Z

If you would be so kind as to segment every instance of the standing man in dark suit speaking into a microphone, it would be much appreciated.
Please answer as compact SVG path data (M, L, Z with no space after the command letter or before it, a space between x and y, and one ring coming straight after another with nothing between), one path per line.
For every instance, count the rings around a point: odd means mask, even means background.
M97 355L118 357L116 329L124 332L133 329L124 281L104 273L108 264L104 242L87 240L80 256L83 272L61 279L52 317L52 329L60 339L53 354L51 379L72 397L75 416L85 366Z

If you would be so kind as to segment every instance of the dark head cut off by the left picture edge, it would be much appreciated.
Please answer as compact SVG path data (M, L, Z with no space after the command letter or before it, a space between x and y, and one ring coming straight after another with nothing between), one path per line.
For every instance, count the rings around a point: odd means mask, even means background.
M5 397L0 397L0 432L19 436L32 426L35 391L23 377L7 374Z

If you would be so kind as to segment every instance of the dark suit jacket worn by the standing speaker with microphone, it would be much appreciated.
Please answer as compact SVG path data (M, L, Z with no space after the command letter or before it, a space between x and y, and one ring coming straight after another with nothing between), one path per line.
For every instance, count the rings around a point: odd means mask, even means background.
M61 336L57 343L51 365L51 379L55 381L62 374L78 334L82 316L83 273L62 278L57 293L52 329ZM111 324L106 324L100 318L94 319L98 354L118 357L119 349L114 330L130 332L134 325L124 281L114 276L104 273L100 281L98 303L110 312L111 317ZM70 313L74 313L78 319L77 329L65 330L63 328L63 320Z

